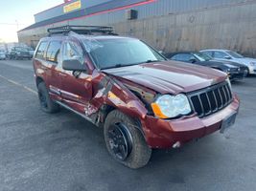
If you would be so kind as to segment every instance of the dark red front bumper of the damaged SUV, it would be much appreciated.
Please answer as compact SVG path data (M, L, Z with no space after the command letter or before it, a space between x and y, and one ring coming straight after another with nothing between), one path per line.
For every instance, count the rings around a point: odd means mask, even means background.
M196 138L202 138L221 129L221 122L239 110L239 98L224 109L209 117L197 116L165 120L147 116L141 121L144 136L151 148L172 148L179 141L181 144Z

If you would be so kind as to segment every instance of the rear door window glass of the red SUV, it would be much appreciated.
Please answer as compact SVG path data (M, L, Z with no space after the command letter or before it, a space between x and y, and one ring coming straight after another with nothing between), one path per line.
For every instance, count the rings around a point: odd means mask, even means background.
M50 42L47 52L46 60L58 63L58 54L61 48L61 41L52 41Z

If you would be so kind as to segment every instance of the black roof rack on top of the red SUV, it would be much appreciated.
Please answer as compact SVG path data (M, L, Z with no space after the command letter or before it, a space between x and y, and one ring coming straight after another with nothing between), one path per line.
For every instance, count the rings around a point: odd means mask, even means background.
M50 28L47 30L49 35L52 34L67 34L68 32L76 32L80 34L108 34L108 35L117 35L114 33L112 27L106 26L75 26L75 25L66 25L62 27Z

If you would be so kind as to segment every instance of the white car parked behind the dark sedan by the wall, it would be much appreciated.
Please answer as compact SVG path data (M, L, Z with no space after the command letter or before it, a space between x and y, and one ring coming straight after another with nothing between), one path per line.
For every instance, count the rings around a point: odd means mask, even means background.
M206 53L212 56L216 60L229 60L244 64L248 67L248 74L256 74L256 59L250 57L244 57L243 55L229 51L229 50L202 50L201 53Z

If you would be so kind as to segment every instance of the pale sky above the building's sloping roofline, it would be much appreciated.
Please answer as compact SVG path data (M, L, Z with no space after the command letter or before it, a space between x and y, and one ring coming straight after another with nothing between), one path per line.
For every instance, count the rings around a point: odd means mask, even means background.
M17 41L17 31L35 23L34 14L63 0L0 0L0 41Z

